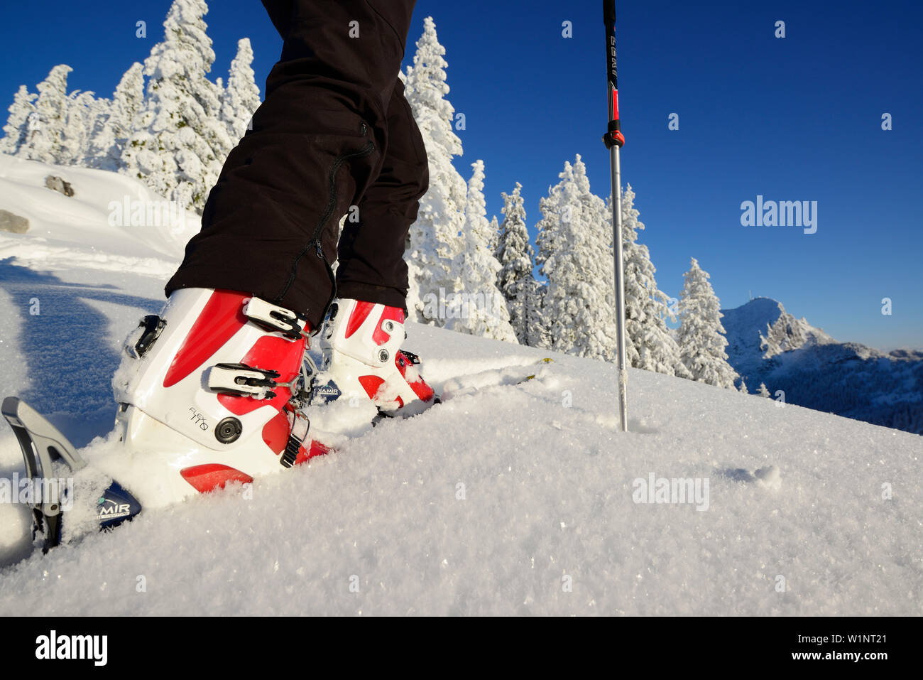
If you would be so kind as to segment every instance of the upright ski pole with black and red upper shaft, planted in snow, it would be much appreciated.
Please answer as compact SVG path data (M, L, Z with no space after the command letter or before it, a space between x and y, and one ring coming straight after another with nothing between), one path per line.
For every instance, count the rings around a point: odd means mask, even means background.
M622 252L622 184L618 152L625 143L618 123L618 75L616 70L616 0L603 0L605 21L605 74L608 80L609 126L603 141L609 150L612 171L612 242L616 264L616 334L618 349L618 419L629 431L628 382L625 358L625 264Z

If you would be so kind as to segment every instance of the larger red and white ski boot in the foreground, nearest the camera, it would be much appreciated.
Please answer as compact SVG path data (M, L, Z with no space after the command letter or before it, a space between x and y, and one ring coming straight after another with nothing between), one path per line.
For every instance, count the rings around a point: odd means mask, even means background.
M146 487L142 503L166 504L327 453L299 411L310 330L294 311L245 293L174 291L128 337L113 379L116 423L135 459L134 479L113 476Z

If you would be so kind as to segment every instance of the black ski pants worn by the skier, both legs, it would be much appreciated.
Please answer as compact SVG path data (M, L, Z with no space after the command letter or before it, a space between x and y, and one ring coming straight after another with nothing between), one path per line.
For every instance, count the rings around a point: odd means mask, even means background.
M404 308L403 252L429 182L398 79L414 4L263 0L282 58L168 296L238 290L306 314L314 328L334 296Z

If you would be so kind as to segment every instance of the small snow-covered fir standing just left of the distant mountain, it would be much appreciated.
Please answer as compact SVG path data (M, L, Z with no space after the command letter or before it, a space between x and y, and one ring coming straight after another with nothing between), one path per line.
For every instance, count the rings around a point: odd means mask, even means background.
M733 389L737 371L727 363L721 303L708 281L708 273L695 258L690 263L679 297L680 356L693 380Z

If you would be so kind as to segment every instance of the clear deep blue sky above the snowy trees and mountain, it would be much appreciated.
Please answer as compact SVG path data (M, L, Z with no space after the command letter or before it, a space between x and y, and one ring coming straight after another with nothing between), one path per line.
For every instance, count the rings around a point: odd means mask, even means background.
M161 39L169 6L6 6L2 106L60 63L74 67L72 90L111 96ZM660 287L678 295L695 257L724 307L774 297L840 340L923 347L923 4L619 0L617 11L622 176L638 194ZM467 177L484 159L488 217L520 181L534 225L539 198L577 153L593 190L608 194L598 0L418 0L405 63L427 15L447 50L450 101L467 118L456 167ZM147 39L135 37L138 19ZM211 77L226 77L247 36L262 88L281 44L259 2L212 0L206 21ZM891 131L881 130L885 112ZM678 130L667 128L671 113ZM818 201L817 233L741 226L741 201L758 194Z

